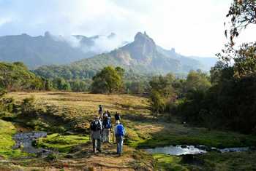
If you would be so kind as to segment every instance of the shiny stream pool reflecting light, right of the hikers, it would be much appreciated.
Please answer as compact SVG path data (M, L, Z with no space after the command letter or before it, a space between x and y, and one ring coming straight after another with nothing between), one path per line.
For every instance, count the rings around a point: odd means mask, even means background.
M208 151L217 151L220 153L226 152L241 152L241 151L248 151L249 147L238 147L238 148L214 148L214 147L207 147L207 146L165 146L165 147L157 147L157 148L148 148L148 151L151 154L169 154L174 156L181 156L184 154L203 154L207 153Z

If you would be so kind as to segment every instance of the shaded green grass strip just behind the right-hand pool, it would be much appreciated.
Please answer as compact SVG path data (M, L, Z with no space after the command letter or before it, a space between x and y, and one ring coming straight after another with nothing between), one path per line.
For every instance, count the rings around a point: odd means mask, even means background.
M145 123L138 123L138 125L143 124ZM154 125L152 123L148 124ZM129 129L128 132L133 135L129 139L129 145L138 148L154 148L157 146L182 144L227 148L255 146L256 144L256 136L253 135L217 130L209 131L205 128L183 127L181 124L175 123L162 123L162 128L156 132L146 132L142 129Z

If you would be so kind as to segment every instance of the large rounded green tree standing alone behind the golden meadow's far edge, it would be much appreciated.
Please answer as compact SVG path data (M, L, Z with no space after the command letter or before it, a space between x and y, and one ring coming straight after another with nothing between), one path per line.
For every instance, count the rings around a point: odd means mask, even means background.
M107 66L93 77L91 92L118 92L122 86L123 70Z

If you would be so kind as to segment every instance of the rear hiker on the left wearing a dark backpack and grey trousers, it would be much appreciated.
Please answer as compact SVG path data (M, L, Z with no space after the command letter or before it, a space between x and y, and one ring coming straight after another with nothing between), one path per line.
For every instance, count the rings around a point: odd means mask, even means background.
M98 116L94 117L94 120L91 122L90 129L94 154L96 154L96 150L101 153L102 122L99 120Z

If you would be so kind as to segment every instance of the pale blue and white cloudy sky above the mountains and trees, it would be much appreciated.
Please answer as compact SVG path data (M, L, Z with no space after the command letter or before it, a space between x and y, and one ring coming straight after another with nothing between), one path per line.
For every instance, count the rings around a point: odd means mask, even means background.
M85 36L116 33L132 41L146 31L182 55L214 57L227 42L225 15L232 0L0 0L0 36L27 33ZM255 27L237 42L255 41Z

